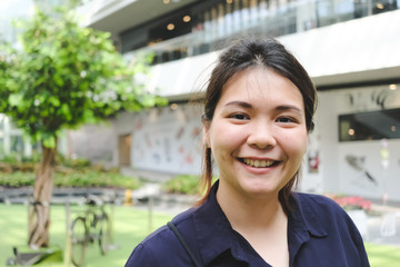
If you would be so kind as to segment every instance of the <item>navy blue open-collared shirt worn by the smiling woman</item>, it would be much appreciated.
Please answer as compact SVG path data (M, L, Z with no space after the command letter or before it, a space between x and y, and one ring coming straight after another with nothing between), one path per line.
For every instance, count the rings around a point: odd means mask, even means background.
M218 182L206 202L172 219L190 249L207 267L270 266L236 230L217 202ZM290 266L369 266L362 238L346 211L331 199L292 194L288 216ZM132 251L126 267L193 266L174 234L162 226Z

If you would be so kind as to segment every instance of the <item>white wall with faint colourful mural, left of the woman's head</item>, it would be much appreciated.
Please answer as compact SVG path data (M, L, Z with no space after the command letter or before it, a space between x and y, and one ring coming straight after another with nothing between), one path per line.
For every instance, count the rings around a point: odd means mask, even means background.
M136 117L132 167L154 171L199 174L201 168L201 108L177 105Z

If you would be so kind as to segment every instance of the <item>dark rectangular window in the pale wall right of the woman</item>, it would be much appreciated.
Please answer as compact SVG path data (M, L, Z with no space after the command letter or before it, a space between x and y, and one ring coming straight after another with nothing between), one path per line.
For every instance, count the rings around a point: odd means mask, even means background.
M339 116L339 140L400 138L400 108Z

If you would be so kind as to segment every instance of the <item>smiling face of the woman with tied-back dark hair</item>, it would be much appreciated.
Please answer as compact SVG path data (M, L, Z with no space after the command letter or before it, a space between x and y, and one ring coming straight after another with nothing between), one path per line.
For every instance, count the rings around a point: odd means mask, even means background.
M224 86L212 121L204 122L204 142L218 165L220 189L278 196L307 150L300 90L264 68L237 73Z

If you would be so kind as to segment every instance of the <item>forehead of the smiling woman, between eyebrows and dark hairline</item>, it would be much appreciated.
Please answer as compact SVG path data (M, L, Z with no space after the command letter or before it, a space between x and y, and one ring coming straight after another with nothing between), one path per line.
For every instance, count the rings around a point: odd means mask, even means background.
M264 103L273 101L303 102L299 88L288 78L267 68L249 68L232 76L222 88L219 102L232 98Z

